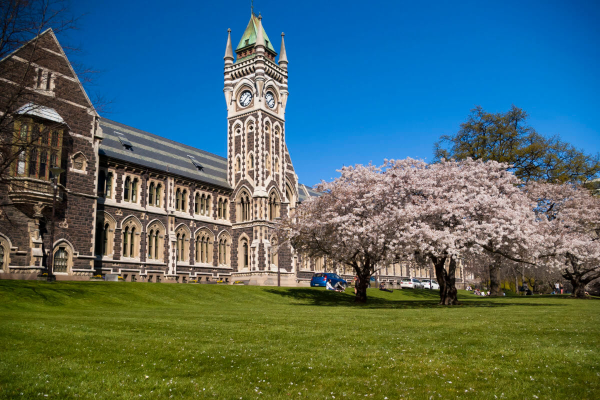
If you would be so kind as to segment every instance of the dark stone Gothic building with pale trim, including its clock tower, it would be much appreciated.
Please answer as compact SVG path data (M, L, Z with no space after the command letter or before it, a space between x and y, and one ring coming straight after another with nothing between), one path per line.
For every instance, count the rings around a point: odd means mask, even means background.
M15 156L0 181L0 278L43 276L51 249L57 279L297 285L316 270L352 275L275 236L277 219L318 196L286 146L287 64L284 35L277 54L260 15L235 49L228 33L223 158L100 118L51 30L0 61L0 127ZM16 87L20 96L7 95ZM50 167L64 170L53 243ZM390 282L403 274L389 271Z

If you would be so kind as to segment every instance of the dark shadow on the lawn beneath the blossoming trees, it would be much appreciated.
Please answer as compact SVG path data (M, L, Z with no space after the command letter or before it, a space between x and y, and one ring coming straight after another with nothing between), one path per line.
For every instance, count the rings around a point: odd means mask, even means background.
M292 305L300 306L334 306L334 307L358 307L374 309L419 309L419 308L440 308L446 307L439 305L437 291L430 293L423 291L411 291L411 293L401 293L403 298L386 299L379 295L379 291L370 291L367 293L367 303L359 304L354 302L354 293L338 293L331 290L315 290L313 288L266 288L266 293L286 297L292 300ZM386 292L382 292L386 293ZM391 297L394 293L389 293ZM385 296L385 294L384 294ZM400 294L395 295L400 296ZM410 296L410 297L409 297ZM409 297L409 299L406 299ZM473 308L496 308L512 305L518 306L563 306L557 303L531 303L506 301L506 297L495 297L486 299L485 297L467 297L459 296L460 305L458 307Z

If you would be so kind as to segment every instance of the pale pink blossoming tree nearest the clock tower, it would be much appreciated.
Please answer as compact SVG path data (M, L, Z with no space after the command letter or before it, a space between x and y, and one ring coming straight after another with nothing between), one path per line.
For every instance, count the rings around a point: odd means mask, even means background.
M341 176L322 182L320 197L305 200L282 231L305 255L327 255L352 267L359 281L355 301L367 301L367 287L377 267L394 257L396 233L387 216L393 206L380 167L344 167Z

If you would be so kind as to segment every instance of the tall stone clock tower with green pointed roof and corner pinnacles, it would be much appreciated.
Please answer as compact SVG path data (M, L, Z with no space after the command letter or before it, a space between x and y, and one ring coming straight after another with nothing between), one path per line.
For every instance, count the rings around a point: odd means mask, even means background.
M233 188L231 266L251 284L295 284L296 257L278 245L275 225L298 201L298 177L286 146L287 57L277 52L254 13L235 50L227 30L227 179ZM235 53L235 56L234 56Z

